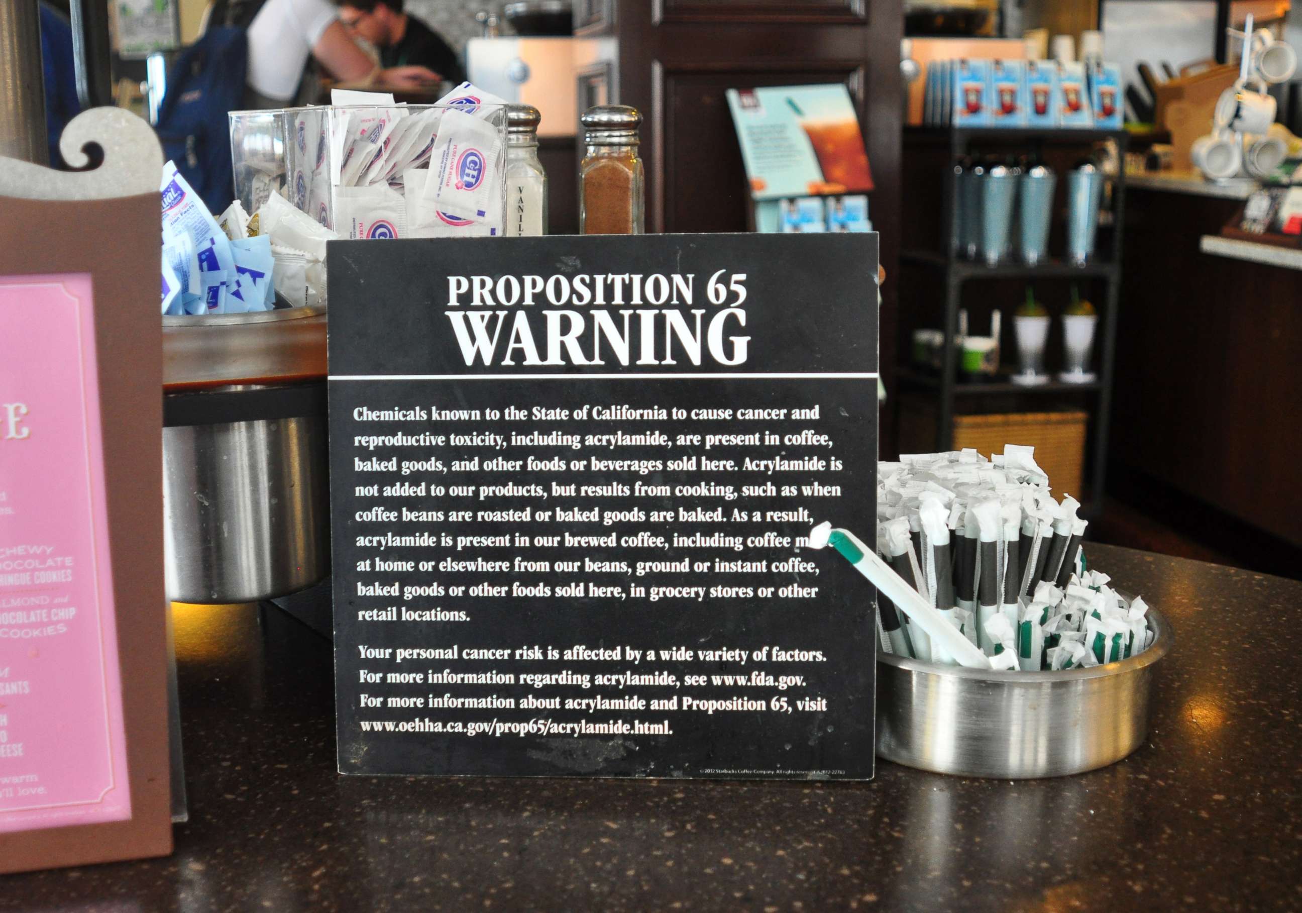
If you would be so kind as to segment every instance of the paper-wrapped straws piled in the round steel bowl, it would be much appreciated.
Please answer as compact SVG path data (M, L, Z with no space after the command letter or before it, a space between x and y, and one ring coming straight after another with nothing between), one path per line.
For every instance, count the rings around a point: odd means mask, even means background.
M1030 447L878 464L879 554L996 668L1099 666L1152 642L1143 599L1086 569L1078 508L1053 498ZM884 651L954 662L889 599L878 610Z

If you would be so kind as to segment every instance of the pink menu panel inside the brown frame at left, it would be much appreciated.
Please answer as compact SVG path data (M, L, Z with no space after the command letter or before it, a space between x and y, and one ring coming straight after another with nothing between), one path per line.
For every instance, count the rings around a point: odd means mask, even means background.
M132 817L98 376L90 275L0 277L0 832Z

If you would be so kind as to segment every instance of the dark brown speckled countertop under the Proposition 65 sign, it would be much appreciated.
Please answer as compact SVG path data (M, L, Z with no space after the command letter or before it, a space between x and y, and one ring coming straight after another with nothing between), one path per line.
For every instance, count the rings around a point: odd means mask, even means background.
M1019 783L345 779L329 645L181 608L176 854L3 878L0 909L1302 909L1302 583L1090 555L1176 628L1150 738Z

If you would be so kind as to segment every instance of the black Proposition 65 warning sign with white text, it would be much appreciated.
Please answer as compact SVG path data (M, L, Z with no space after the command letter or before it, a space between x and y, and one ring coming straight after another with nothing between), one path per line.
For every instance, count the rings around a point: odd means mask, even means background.
M876 234L328 251L341 772L872 776Z

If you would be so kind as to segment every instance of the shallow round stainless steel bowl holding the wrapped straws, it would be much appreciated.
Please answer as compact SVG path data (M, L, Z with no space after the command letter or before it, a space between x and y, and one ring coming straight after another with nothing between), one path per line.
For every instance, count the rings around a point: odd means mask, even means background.
M984 672L878 658L878 755L958 776L1030 779L1121 761L1148 732L1154 667L1174 634L1148 610L1152 646L1066 672Z

